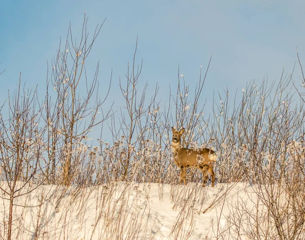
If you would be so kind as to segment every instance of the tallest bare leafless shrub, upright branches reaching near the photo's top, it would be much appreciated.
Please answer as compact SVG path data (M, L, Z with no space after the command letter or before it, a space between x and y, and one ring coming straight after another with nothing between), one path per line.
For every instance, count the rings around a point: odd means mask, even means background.
M87 79L85 70L85 62L102 26L103 24L97 25L92 40L89 40L87 18L84 16L80 40L76 43L70 25L65 45L62 46L60 42L57 55L52 61L51 73L47 80L45 106L45 164L48 183L74 183L77 166L82 163L82 147L89 138L89 132L110 116L110 112L103 113L101 109L110 85L104 99L98 97L99 64L91 82ZM85 83L85 93L80 93L80 82ZM53 93L50 93L50 85L55 90L54 100ZM96 100L92 102L94 98ZM100 113L102 117L98 117ZM59 169L62 170L60 177L56 175Z

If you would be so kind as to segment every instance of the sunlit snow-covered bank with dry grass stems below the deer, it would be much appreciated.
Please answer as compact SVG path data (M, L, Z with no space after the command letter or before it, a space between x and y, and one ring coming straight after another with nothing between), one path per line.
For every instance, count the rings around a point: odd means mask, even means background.
M8 190L7 182L1 185ZM15 196L15 239L220 239L232 227L228 219L236 204L247 202L251 208L256 199L249 183L215 188L200 183L112 182L87 188L32 183ZM1 197L5 238L10 201L3 192ZM248 238L240 233L239 239Z

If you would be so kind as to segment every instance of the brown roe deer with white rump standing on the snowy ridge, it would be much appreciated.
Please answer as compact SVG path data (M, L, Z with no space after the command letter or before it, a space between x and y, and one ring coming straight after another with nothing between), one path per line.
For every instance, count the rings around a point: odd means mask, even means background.
M200 169L202 172L202 186L205 186L209 173L211 176L212 186L214 187L215 172L213 170L213 165L217 160L217 154L208 148L193 150L182 147L181 135L185 132L185 129L182 128L180 131L177 131L174 127L172 127L172 131L172 152L174 155L174 161L177 167L181 169L179 183L181 184L182 179L184 184L186 184L187 168L194 167Z

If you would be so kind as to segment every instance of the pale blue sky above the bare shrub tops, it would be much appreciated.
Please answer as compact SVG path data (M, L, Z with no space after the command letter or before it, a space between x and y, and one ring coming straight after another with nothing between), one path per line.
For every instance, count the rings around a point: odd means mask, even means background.
M118 105L118 76L126 74L137 36L137 59L143 59L140 82L151 87L147 95L158 83L163 100L168 86L176 87L178 64L192 89L212 53L203 92L208 99L227 87L241 94L251 79L280 79L283 68L292 71L296 47L305 62L303 1L4 0L1 9L0 71L6 71L0 75L0 102L16 87L20 72L27 88L38 84L44 92L46 62L56 55L69 21L75 35L81 30L84 11L91 30L106 18L87 70L94 71L100 61L99 81L107 84L113 69L109 100ZM297 66L295 80L298 72Z

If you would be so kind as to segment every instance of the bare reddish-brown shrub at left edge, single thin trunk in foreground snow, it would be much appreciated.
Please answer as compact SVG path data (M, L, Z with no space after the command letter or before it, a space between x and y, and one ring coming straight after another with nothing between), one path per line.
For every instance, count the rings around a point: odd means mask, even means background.
M7 239L12 237L13 222L18 221L13 218L15 201L32 191L20 192L27 189L27 183L35 181L37 172L41 170L44 128L40 126L42 110L36 94L36 90L31 92L21 88L20 74L16 91L13 95L8 94L7 102L0 109L0 177L7 182L0 186L0 190L2 198L9 200L9 214L4 216L7 232L3 237ZM4 110L6 106L7 111ZM8 113L7 119L4 112Z

